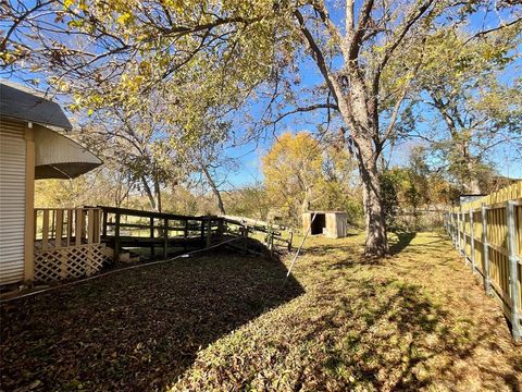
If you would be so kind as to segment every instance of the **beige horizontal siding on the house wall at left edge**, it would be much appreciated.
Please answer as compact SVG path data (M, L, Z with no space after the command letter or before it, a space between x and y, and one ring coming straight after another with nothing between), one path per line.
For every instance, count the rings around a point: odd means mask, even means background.
M0 284L24 279L24 124L0 120Z

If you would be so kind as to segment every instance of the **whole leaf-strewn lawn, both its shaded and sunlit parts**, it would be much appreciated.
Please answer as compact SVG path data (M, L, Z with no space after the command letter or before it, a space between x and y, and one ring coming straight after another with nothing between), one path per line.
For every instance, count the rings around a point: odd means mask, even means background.
M296 238L295 244L299 244ZM450 243L307 241L269 261L214 254L2 306L5 391L512 391L522 350Z

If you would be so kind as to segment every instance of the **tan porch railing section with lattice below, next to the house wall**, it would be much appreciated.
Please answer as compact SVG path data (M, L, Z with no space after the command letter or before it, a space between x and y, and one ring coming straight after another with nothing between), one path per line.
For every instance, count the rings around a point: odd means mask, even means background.
M35 209L35 281L91 275L105 259L101 209Z

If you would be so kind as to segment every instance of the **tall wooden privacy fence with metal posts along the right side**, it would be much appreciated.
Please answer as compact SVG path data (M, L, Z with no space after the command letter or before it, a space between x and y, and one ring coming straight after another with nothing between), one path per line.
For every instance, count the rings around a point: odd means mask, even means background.
M522 339L522 182L447 212L445 229Z

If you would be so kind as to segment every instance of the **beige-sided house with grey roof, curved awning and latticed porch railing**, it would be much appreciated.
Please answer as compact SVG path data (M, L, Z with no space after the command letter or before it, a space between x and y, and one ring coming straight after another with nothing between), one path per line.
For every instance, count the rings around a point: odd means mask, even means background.
M97 267L78 268L83 253L97 253L96 210L35 210L35 180L74 179L102 163L54 130L72 130L58 103L0 79L0 285Z

